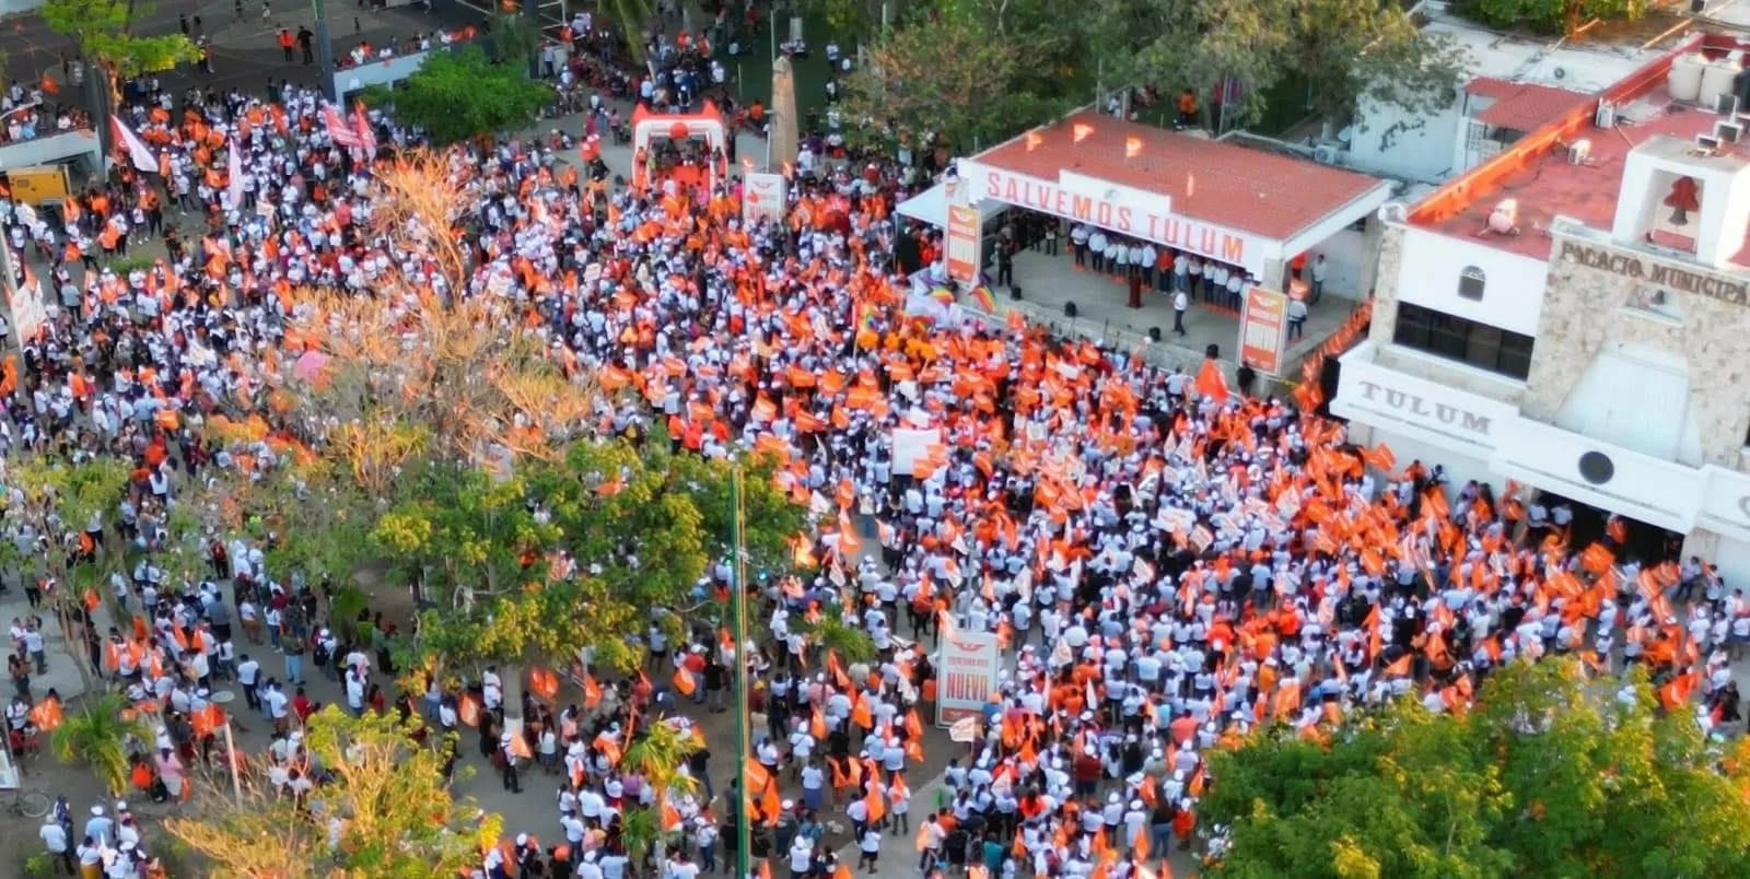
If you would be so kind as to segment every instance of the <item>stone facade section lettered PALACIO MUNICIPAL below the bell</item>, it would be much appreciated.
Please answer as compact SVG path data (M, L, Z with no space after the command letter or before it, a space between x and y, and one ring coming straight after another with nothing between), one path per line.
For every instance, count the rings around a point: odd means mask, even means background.
M1554 235L1544 313L1538 319L1531 376L1521 410L1526 417L1554 422L1580 376L1608 343L1678 354L1689 364L1690 410L1704 462L1743 469L1745 432L1750 431L1750 306L1668 289L1666 296L1675 298L1680 317L1656 317L1629 308L1631 296L1647 287L1645 277L1563 257L1563 243L1573 240L1587 249L1620 250L1642 264L1659 263L1661 257L1608 243L1586 231L1575 235ZM1684 268L1712 275L1701 266ZM1746 278L1732 280L1741 284Z

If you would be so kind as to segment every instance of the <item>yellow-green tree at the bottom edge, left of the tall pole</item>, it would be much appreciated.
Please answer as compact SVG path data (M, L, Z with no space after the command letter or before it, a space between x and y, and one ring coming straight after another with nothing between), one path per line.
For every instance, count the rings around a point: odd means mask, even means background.
M504 821L452 798L443 767L453 742L422 744L411 723L329 706L304 725L304 748L334 776L308 809L256 786L234 800L224 784L200 816L164 828L206 856L214 875L457 875L497 844ZM340 819L338 846L329 816Z

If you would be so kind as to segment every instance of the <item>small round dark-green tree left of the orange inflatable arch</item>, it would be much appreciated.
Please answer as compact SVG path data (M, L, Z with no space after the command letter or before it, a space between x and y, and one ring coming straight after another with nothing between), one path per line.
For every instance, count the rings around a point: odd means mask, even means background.
M399 88L369 89L364 100L373 107L394 105L402 123L424 128L439 144L457 144L527 128L553 91L530 81L520 58L494 63L485 49L464 46L432 53Z

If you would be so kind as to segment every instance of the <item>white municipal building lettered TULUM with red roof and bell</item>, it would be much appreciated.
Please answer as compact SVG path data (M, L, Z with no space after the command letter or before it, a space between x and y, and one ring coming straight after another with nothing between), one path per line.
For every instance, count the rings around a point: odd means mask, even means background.
M1372 329L1330 406L1356 441L1446 464L1454 490L1568 499L1577 546L1615 513L1643 559L1682 538L1750 583L1750 114L1720 103L1750 89L1738 49L1689 39L1381 208Z

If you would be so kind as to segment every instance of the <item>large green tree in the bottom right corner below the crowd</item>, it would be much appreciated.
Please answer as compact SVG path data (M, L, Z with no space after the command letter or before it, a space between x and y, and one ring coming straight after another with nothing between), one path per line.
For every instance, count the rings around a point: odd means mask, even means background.
M1745 875L1745 746L1710 748L1631 686L1514 664L1465 716L1405 699L1323 744L1276 728L1214 753L1199 818L1232 847L1211 874Z

